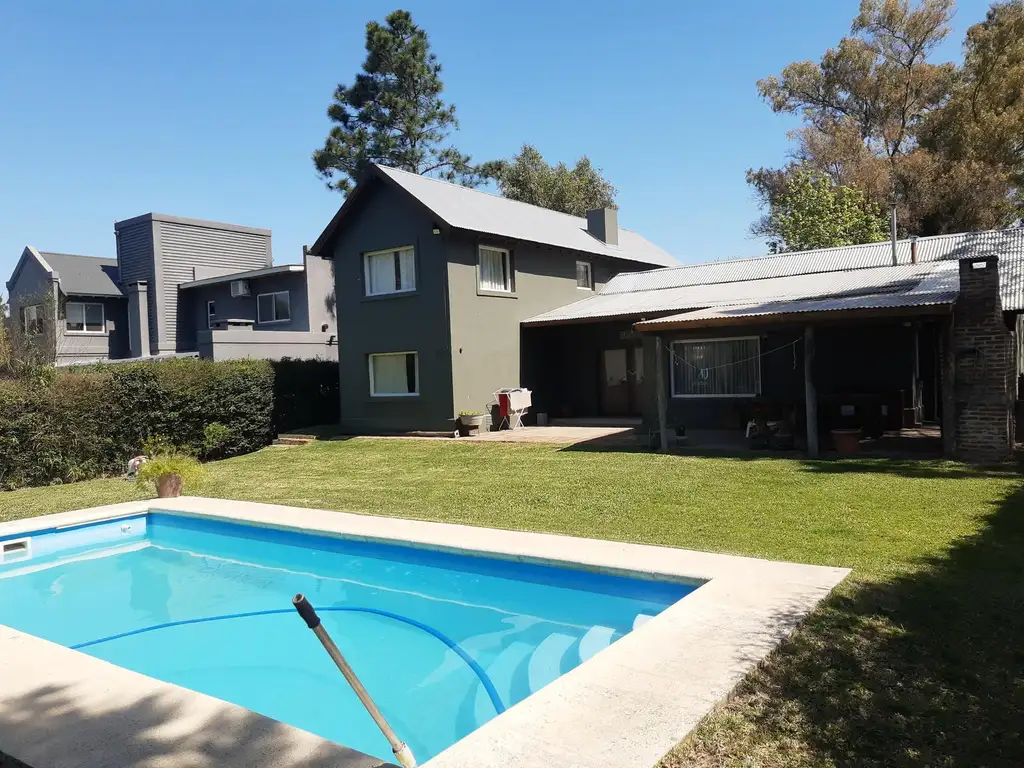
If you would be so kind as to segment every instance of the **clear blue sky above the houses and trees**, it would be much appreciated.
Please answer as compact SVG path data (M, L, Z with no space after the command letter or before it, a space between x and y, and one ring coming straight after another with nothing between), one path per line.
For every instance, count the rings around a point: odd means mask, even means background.
M961 0L937 59L988 3ZM114 256L146 211L273 229L295 262L341 202L309 156L365 56L406 7L427 30L474 160L523 142L589 155L620 221L682 261L756 255L749 167L784 161L793 118L758 78L818 58L856 0L5 0L0 3L0 289L27 244Z

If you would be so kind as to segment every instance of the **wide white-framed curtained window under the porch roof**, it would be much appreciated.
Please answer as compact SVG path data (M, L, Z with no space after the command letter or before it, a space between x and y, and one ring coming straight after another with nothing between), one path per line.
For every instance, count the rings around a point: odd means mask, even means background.
M761 393L761 340L715 339L672 344L674 397L752 397Z

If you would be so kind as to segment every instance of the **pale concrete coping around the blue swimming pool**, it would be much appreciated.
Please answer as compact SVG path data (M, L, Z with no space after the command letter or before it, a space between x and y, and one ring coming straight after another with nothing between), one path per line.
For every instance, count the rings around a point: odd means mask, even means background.
M0 537L96 522L150 511L292 528L364 541L550 563L683 583L702 583L585 664L444 750L429 768L650 768L725 698L846 575L848 568L759 560L694 550L555 534L374 517L273 504L182 497L94 507L0 523ZM30 724L11 701L40 689L66 689L103 728L59 732ZM83 754L120 751L118 765L345 766L372 758L202 693L145 677L0 625L0 749L33 768L82 765ZM173 702L160 723L144 723L138 743L132 702ZM67 703L67 702L66 702ZM165 708L166 709L166 708ZM119 720L119 715L123 717ZM122 724L118 729L111 722ZM200 734L218 723L208 739ZM237 727L232 751L222 743ZM43 730L40 730L43 729ZM33 731L36 735L33 736ZM175 735L177 734L177 735ZM191 734L184 738L181 734ZM255 744L255 745L254 745ZM154 754L159 753L159 754ZM370 762L368 762L370 761ZM94 760L90 764L100 764ZM111 763L113 764L113 762Z

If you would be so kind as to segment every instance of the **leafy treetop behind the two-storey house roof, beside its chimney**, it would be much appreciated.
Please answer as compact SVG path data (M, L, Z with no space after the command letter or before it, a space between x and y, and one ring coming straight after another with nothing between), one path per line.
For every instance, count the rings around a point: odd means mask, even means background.
M614 206L615 187L584 156L569 168L549 165L537 147L523 144L511 160L495 160L479 167L494 179L502 195L554 211L583 216L595 208Z

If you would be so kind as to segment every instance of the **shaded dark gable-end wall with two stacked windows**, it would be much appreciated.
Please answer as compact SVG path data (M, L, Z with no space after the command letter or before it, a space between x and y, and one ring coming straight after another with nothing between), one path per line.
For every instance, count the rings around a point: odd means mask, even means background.
M441 237L431 232L432 220L401 193L381 181L366 193L333 254L342 427L356 433L451 430L452 348ZM401 246L416 249L416 291L366 297L362 254ZM419 396L371 397L369 355L374 352L417 352Z

